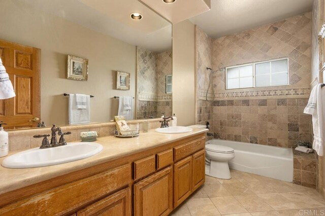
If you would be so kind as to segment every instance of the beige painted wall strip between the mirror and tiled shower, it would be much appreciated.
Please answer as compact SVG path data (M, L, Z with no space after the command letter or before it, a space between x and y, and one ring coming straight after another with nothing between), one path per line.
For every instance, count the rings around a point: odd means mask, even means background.
M195 123L194 31L188 20L173 25L173 113L177 125Z

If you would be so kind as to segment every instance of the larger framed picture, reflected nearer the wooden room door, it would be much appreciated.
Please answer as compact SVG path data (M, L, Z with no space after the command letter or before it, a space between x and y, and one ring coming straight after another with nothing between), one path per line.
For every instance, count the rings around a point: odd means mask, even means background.
M88 80L88 59L68 55L67 79Z

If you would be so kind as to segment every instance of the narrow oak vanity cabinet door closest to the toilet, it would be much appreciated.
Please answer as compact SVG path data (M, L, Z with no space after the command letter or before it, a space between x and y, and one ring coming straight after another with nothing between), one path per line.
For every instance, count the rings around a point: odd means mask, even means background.
M192 191L195 191L205 182L205 149L193 154L192 163Z

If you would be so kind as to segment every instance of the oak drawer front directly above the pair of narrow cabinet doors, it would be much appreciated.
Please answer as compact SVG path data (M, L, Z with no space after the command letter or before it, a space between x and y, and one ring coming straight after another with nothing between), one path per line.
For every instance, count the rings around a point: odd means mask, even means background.
M205 147L205 137L175 147L174 160L178 161Z

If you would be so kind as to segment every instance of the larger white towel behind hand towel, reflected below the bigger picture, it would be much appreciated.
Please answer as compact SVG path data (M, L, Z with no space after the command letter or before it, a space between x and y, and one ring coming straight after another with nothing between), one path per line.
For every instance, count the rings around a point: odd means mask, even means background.
M85 124L90 122L90 96L86 97L86 109L78 109L76 95L69 96L69 124Z

